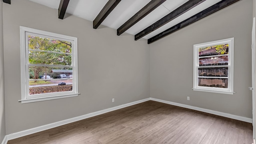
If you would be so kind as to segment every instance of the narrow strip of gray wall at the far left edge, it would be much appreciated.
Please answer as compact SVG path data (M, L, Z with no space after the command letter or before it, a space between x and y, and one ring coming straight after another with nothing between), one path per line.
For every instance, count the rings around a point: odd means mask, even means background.
M5 108L4 108L4 54L3 54L3 18L2 0L0 1L0 142L5 136Z

